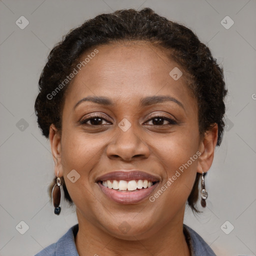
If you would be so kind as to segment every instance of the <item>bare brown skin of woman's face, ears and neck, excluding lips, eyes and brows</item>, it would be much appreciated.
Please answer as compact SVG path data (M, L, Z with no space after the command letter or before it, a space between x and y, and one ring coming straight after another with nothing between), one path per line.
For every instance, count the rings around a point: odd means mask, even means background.
M197 102L184 79L184 71L164 51L146 42L111 43L97 47L98 53L73 78L66 91L62 112L62 134L52 124L50 143L55 175L64 176L76 205L79 230L75 243L79 255L190 255L182 231L187 197L196 172L206 172L213 160L217 125L200 138ZM183 75L174 80L175 66ZM177 99L140 107L146 96ZM84 101L86 96L105 96L113 105ZM89 114L104 120L99 125L78 124ZM152 114L153 116L149 116ZM174 119L160 125L152 117ZM149 118L150 117L150 118ZM126 118L127 131L118 123ZM92 122L93 123L93 122ZM137 169L159 177L154 194L197 151L201 155L154 202L148 198L133 204L110 200L95 179L110 171ZM72 183L67 174L75 169L80 178ZM129 231L118 226L126 221Z

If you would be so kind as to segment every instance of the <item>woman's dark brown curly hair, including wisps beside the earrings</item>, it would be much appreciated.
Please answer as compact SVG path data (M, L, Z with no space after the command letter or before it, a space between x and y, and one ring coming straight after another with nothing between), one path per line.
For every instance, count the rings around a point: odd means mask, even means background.
M39 78L39 93L34 109L42 134L49 137L49 126L55 125L61 133L61 114L68 82L51 100L47 97L79 62L81 56L95 46L129 40L147 41L170 52L169 58L175 60L191 77L188 87L198 104L199 134L203 135L215 123L218 126L217 145L222 140L224 128L224 97L227 93L223 68L212 57L209 48L184 25L159 16L150 8L141 10L121 9L103 13L70 30L50 51ZM191 209L196 207L198 182L196 178L187 202ZM61 177L64 196L72 204L72 199ZM49 186L49 195L55 177Z

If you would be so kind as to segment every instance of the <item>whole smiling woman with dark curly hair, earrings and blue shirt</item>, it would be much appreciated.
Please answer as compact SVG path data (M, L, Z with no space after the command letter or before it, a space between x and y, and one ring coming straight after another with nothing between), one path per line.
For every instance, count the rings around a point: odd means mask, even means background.
M185 26L150 8L71 30L50 52L35 111L78 224L40 255L215 255L183 224L223 133L223 70ZM198 184L200 187L198 188Z

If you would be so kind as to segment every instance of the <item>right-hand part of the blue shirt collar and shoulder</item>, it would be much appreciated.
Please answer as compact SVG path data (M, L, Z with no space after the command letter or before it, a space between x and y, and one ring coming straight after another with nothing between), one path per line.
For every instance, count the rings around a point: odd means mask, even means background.
M188 236L188 242L192 252L191 256L204 255L204 256L216 256L210 246L202 239L202 237L196 233L191 227L183 224L184 232Z

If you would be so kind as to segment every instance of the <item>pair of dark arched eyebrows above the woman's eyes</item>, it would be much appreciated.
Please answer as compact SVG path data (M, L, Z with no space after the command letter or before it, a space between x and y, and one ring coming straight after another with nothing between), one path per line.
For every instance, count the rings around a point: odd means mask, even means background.
M101 104L101 105L114 105L114 102L107 97L103 97L103 96L87 96L85 98L80 99L73 107L73 110L82 102L84 101L91 101L97 104ZM166 102L166 101L172 101L177 103L179 106L181 106L183 109L184 106L183 104L178 101L176 98L171 97L171 96L148 96L148 97L144 97L142 99L140 99L139 102L139 106L143 107L143 106L148 106L148 105L152 105L152 104L156 104L156 103L162 103L162 102Z

